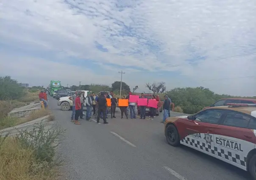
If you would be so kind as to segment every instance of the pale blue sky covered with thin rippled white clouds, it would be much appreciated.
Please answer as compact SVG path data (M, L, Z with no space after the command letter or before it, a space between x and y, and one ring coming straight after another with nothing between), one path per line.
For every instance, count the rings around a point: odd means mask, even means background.
M0 76L256 96L255 0L1 0Z

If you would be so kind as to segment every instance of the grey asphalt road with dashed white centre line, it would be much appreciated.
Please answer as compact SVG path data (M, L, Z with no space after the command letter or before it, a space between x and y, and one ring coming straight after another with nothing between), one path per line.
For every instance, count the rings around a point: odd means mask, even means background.
M58 147L61 178L68 180L248 180L247 172L189 147L172 147L160 117L70 122L71 111L61 111L49 98L49 108L66 133ZM173 115L176 115L173 113Z

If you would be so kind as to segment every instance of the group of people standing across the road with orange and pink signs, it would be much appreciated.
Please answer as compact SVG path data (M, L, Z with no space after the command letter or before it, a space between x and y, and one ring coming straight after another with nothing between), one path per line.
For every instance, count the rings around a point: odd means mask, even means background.
M130 95L132 93L130 92L128 96L122 96L121 99L129 99ZM107 106L107 100L106 98L111 99L111 106ZM140 98L145 98L144 94L141 94ZM160 101L159 95L153 95L153 99L156 101ZM171 100L168 98L167 95L164 96L165 100L163 103L163 121L161 123L164 123L167 117L170 117L170 105ZM97 95L95 93L88 92L87 96L85 97L84 92L81 90L77 90L72 97L70 97L70 100L73 101L73 107L72 107L72 116L71 121L75 124L81 124L78 119L83 119L83 107L86 107L86 120L92 121L92 111L95 118L97 118L97 123L99 123L100 118L103 119L104 124L108 124L106 119L108 118L109 111L111 113L111 118L115 117L116 108L118 106L118 98L115 98L115 95L113 93L98 93ZM121 111L121 118L123 118L123 115L125 114L126 119L128 119L129 110L130 110L130 116L131 119L136 119L136 103L129 102L128 106L120 106ZM145 110L146 106L139 106L140 109L140 119L145 119ZM150 107L150 119L153 120L156 116L156 108Z

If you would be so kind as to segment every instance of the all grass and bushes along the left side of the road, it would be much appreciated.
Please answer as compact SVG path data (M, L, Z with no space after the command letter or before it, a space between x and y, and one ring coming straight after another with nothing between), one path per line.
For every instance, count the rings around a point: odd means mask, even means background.
M0 77L0 129L49 115L48 109L39 109L27 117L8 117L12 109L38 101L43 87L25 88L11 79ZM60 128L48 128L42 121L31 130L22 130L15 136L0 134L0 180L53 180L56 177L56 147Z

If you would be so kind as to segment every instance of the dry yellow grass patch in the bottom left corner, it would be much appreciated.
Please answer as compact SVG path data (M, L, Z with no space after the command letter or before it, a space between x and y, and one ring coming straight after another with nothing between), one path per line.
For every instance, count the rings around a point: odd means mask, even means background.
M52 180L54 170L38 162L32 149L8 137L0 146L0 180Z

